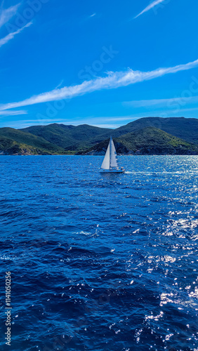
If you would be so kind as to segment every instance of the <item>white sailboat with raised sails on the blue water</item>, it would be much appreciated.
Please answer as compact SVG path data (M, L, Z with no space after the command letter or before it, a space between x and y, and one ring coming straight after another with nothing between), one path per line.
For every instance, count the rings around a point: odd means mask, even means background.
M114 142L112 137L110 138L110 143L107 147L107 151L105 154L105 158L103 160L103 164L100 168L100 172L103 173L124 173L125 169L123 167L119 167L117 161L117 153L114 147Z

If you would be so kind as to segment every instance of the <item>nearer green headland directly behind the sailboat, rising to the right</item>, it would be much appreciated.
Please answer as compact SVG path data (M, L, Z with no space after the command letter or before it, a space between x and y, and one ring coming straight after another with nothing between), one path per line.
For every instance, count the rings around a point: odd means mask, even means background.
M84 154L105 154L109 139ZM119 154L198 154L198 145L187 143L159 128L147 127L114 139Z

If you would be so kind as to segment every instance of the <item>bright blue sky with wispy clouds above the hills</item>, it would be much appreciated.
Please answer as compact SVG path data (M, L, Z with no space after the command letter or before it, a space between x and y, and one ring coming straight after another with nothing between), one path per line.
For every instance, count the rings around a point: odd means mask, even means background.
M0 126L198 117L197 0L4 0Z

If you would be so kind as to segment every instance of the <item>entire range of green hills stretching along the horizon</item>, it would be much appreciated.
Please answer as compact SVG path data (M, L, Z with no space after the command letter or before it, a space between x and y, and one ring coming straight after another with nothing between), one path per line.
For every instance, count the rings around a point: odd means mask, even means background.
M145 117L116 129L83 124L0 128L0 154L198 154L198 119Z

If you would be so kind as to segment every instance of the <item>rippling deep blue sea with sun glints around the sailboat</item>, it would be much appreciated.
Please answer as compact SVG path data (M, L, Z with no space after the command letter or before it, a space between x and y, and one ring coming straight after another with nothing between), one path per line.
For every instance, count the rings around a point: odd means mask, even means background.
M102 160L0 157L0 350L198 350L198 157Z

